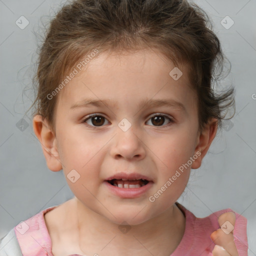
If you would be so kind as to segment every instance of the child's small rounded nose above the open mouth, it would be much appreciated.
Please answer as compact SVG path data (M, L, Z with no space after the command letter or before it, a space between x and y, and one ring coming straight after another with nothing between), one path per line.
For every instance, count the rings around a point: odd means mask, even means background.
M112 157L115 159L123 157L128 160L141 160L145 157L145 143L143 143L140 133L138 134L132 125L126 131L117 126L116 133L110 150Z

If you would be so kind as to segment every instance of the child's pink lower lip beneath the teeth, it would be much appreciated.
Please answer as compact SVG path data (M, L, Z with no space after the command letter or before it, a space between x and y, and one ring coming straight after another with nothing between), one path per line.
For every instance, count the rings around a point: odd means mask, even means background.
M121 198L136 198L139 197L141 194L145 193L148 189L150 189L153 185L153 182L150 181L147 184L140 186L140 187L133 187L133 188L120 188L118 186L113 186L109 182L103 182L111 192Z

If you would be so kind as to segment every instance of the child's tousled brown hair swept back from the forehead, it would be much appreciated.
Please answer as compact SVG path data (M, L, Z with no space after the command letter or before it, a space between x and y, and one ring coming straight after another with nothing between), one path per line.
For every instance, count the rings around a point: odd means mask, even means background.
M102 52L147 47L157 49L177 67L189 64L200 130L211 117L221 126L222 110L234 104L234 89L214 92L224 55L205 11L187 0L74 0L64 5L50 21L39 49L33 114L46 118L55 132L58 95L50 100L47 95L82 57L95 48Z

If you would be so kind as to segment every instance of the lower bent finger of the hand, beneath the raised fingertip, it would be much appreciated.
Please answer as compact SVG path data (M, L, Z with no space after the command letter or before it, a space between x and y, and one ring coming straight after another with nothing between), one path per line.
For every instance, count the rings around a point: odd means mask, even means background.
M230 255L239 256L232 232L226 234L221 228L218 228L211 233L210 238L216 245L222 246Z

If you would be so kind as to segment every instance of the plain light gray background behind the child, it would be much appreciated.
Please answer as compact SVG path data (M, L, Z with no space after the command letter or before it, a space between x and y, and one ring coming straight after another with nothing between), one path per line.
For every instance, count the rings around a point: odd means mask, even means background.
M248 255L256 255L256 1L194 2L209 14L231 62L231 72L220 85L235 86L236 110L218 132L202 166L191 170L178 201L198 217L228 207L245 216ZM0 0L0 237L20 221L73 197L62 171L47 168L31 116L24 115L34 97L34 31L43 35L40 17L47 20L60 3L64 1ZM24 29L15 23L21 15L29 21ZM234 21L228 29L220 23L226 15ZM21 118L25 121L20 124Z

